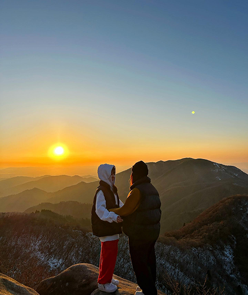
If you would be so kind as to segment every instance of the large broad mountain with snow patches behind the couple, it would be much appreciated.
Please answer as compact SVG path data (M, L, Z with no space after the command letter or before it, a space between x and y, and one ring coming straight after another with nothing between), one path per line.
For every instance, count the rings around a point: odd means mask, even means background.
M148 163L149 177L161 198L161 232L182 227L225 197L248 193L248 175L234 166L205 159ZM128 194L131 169L117 175L119 196Z

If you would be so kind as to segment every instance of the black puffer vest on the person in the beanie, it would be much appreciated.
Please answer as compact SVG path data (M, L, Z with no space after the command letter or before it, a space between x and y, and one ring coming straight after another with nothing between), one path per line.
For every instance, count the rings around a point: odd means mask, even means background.
M130 187L141 193L140 206L132 214L123 217L123 231L132 239L156 240L160 232L161 202L159 193L150 183L149 177L142 177Z

